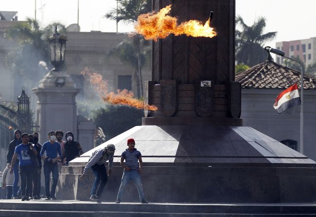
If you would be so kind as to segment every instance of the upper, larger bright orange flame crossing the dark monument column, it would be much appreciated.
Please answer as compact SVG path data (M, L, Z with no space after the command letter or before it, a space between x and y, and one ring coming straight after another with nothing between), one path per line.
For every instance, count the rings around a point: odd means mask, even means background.
M143 35L145 39L166 38L170 34L175 36L187 35L193 37L214 37L217 33L210 27L210 20L203 25L201 21L189 20L177 24L178 19L169 16L171 5L162 8L158 13L142 14L138 17L135 32Z

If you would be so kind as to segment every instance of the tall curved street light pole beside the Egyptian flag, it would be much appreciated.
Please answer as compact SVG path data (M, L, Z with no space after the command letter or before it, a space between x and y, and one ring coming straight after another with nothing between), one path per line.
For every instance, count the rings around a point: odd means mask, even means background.
M286 56L285 55L285 52L284 51L281 51L281 50L278 50L278 49L275 49L275 48L272 48L272 47L265 47L264 50L266 50L267 52L270 52L270 53L273 53L273 54L276 54L276 55L279 55L279 56L282 56L284 58L287 58L287 59L290 59L292 61L295 61L297 63L299 63L300 67L301 67L301 79L300 79L300 84L301 84L301 113L300 113L300 144L299 144L299 149L300 149L300 153L303 154L304 152L304 72L305 72L305 69L304 69L304 65L301 61L297 60L297 59L294 59L294 58L291 58L289 56Z

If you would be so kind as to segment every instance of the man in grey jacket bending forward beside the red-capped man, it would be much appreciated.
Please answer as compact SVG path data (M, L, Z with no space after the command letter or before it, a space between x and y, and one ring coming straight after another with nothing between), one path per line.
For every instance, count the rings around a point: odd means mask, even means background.
M108 174L110 175L112 173L114 152L115 145L113 144L109 144L105 148L100 148L94 151L89 158L89 162L84 167L82 175L79 177L79 180L82 180L89 168L93 170L96 178L91 190L91 200L100 201L103 188L108 179L104 163L109 161Z

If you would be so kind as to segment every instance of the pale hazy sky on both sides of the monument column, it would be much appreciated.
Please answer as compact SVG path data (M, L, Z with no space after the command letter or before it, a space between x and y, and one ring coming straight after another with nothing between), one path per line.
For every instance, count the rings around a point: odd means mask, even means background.
M103 16L116 8L116 0L0 0L0 11L18 11L19 20L35 17L42 24L59 21L66 26L77 23L81 32L116 32L116 21ZM277 32L276 38L265 45L274 47L276 41L316 37L316 0L236 0L236 15L247 25L259 17L266 18L267 32ZM119 32L133 31L133 25L119 23Z

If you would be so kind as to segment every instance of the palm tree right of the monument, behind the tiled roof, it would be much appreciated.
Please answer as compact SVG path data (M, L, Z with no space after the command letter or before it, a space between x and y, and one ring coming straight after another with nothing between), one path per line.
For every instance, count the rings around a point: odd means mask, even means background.
M276 32L263 34L266 19L259 17L252 26L247 26L240 16L236 18L236 25L242 31L236 30L236 60L250 67L262 63L266 59L266 52L262 48L265 41L276 37Z

